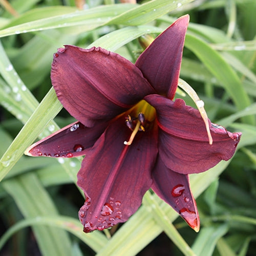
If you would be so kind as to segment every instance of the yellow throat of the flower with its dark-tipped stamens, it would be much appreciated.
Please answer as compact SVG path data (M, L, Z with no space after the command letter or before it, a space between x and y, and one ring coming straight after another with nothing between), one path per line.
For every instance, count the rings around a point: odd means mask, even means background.
M129 115L125 119L125 123L130 130L132 130L132 135L129 141L124 141L124 145L131 145L136 134L138 132L145 132L151 126L151 123L155 120L156 110L155 108L148 104L145 100L141 100L136 104Z

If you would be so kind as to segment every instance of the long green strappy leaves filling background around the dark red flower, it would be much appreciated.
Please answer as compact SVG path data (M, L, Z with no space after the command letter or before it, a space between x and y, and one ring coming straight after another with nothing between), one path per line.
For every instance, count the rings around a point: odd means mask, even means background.
M138 2L0 0L3 255L254 255L256 3ZM85 234L77 216L84 199L75 184L81 158L23 155L36 138L73 121L51 89L52 55L64 44L94 45L134 62L143 50L139 38L157 36L186 13L190 24L181 78L204 100L213 122L243 132L238 152L231 161L190 176L201 217L199 233L147 193L125 224ZM189 97L179 97L194 105Z

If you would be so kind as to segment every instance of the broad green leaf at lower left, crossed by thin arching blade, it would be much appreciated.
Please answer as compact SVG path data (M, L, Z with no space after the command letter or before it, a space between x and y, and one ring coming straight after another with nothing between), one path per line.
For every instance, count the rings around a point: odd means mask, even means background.
M26 218L57 215L55 206L36 175L30 173L3 182ZM52 227L34 227L43 255L71 255L71 242L67 233Z

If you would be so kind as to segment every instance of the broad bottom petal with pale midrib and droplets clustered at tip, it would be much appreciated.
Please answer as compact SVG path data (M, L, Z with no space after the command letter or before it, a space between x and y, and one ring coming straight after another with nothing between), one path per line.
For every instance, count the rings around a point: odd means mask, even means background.
M155 130L138 132L128 146L131 131L124 116L114 121L82 161L77 184L86 195L79 218L85 232L126 221L151 187L157 155Z

